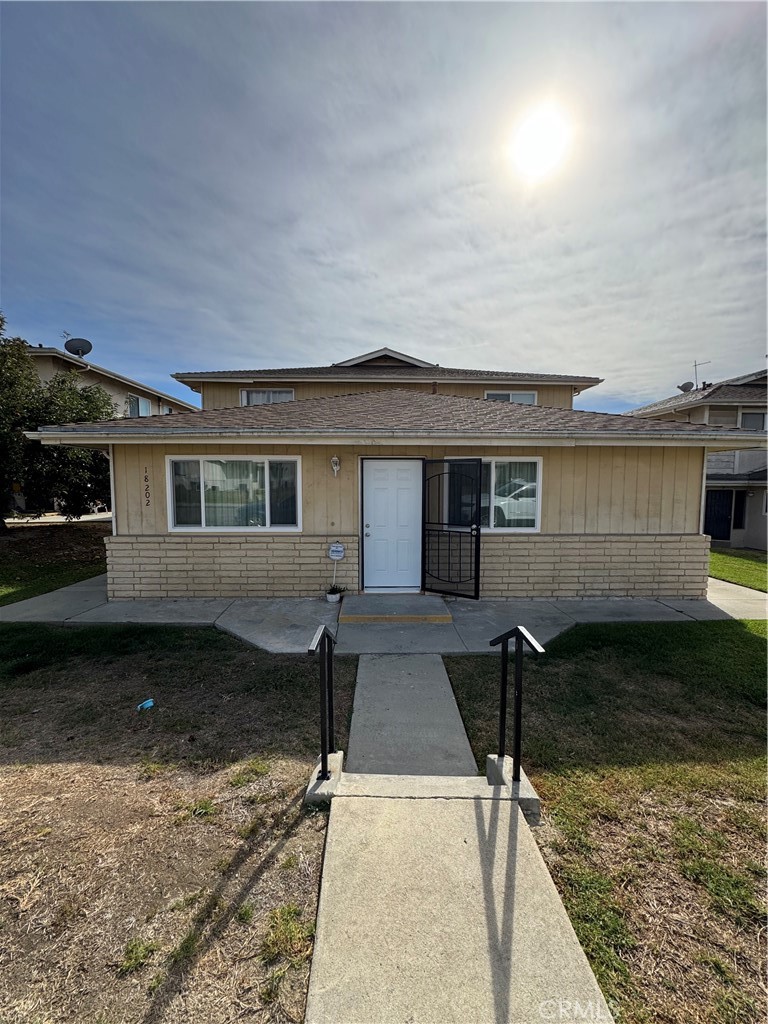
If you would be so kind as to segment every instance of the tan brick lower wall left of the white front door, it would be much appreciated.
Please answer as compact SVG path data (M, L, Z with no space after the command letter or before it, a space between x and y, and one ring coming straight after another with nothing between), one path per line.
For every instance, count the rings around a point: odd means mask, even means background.
M315 596L331 584L328 548L334 541L347 549L336 582L356 589L356 537L108 537L108 595L111 600Z

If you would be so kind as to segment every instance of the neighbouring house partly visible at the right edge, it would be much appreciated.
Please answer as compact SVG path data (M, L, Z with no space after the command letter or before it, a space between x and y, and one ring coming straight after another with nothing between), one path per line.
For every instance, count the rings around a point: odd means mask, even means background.
M630 416L764 430L766 371L702 384L672 398L635 409ZM707 459L703 531L734 548L768 547L766 449L718 452Z

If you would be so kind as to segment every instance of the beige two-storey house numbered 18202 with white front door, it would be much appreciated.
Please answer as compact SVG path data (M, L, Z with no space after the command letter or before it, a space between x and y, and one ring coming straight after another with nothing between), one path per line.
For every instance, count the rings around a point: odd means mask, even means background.
M110 452L111 598L317 595L333 544L350 590L699 598L707 452L765 436L573 411L594 377L388 349L177 379L202 412L30 434Z

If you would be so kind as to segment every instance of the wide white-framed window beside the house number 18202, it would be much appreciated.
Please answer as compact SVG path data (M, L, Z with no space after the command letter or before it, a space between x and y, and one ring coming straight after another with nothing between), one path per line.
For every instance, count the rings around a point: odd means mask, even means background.
M299 529L298 459L168 460L172 529Z

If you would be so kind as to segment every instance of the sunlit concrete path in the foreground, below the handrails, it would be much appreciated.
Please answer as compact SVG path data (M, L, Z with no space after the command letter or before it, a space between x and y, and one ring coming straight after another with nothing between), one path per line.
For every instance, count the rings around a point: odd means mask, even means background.
M333 801L306 1024L539 1024L577 1002L612 1020L515 803Z

